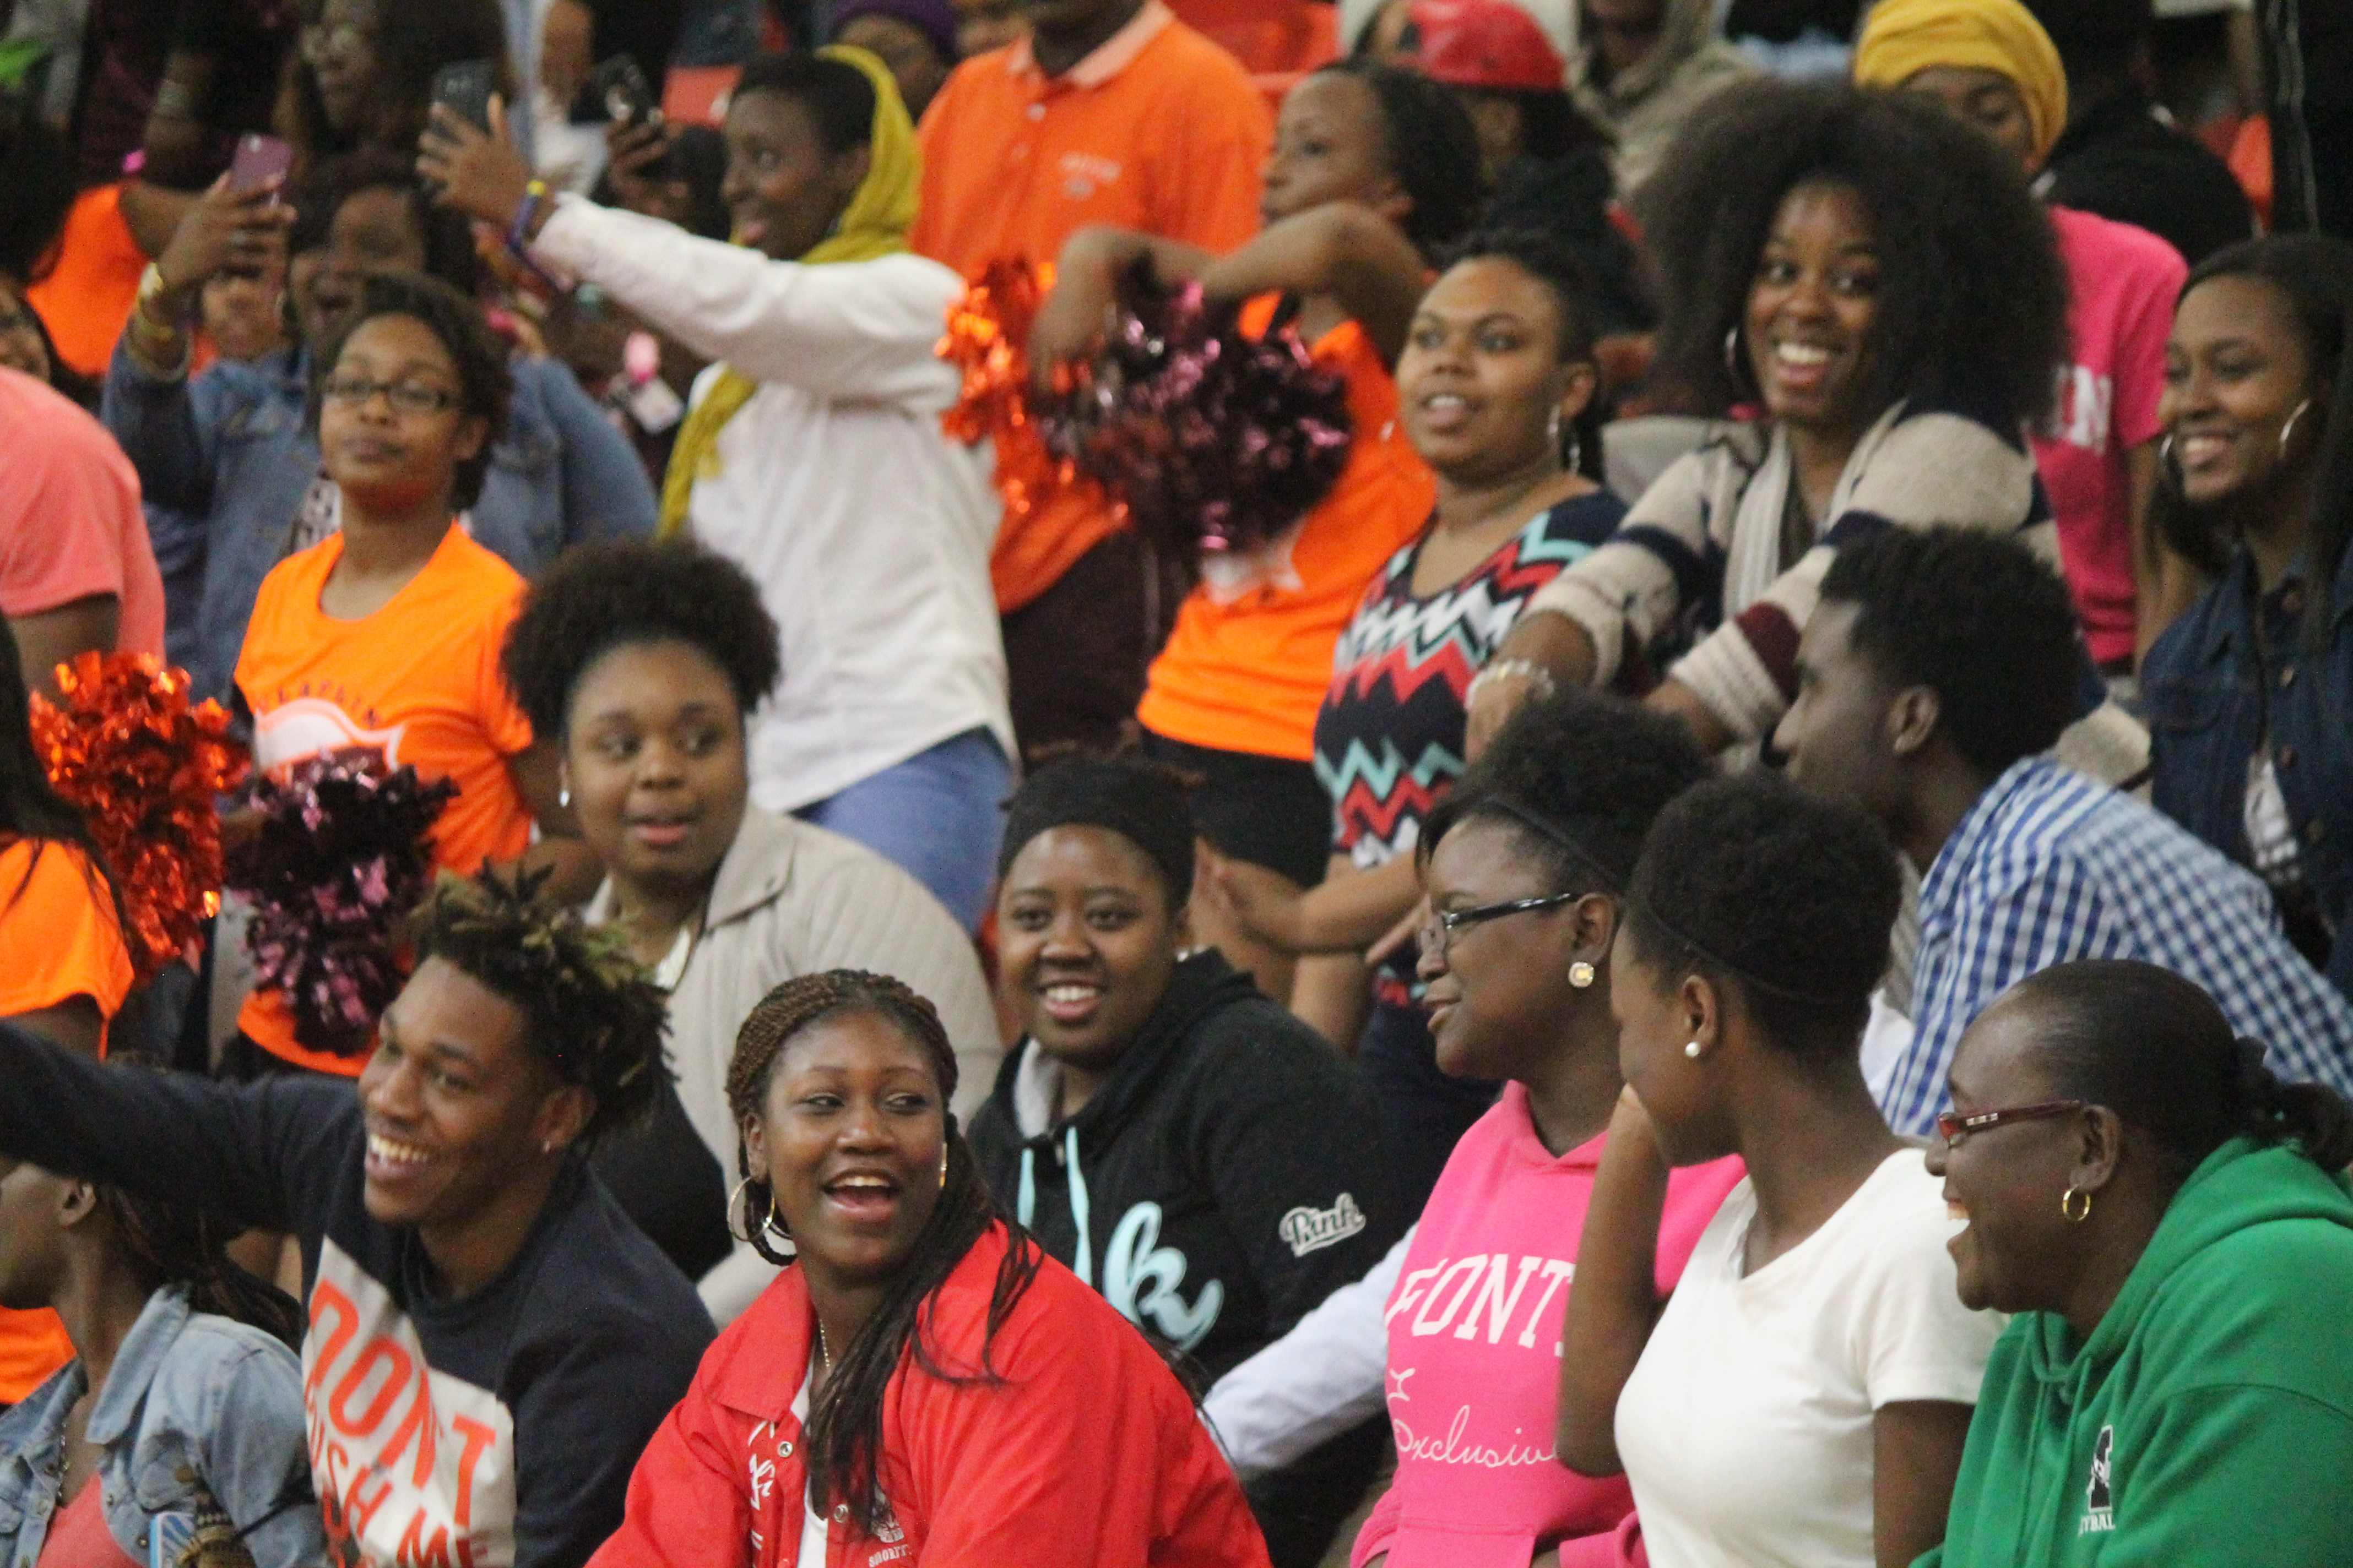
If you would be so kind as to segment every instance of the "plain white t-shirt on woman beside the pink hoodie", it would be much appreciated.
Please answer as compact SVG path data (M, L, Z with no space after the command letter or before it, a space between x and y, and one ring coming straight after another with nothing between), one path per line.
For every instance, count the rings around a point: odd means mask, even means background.
M1977 1403L2002 1316L1960 1305L1960 1225L1918 1150L1744 1279L1755 1211L1744 1178L1619 1394L1642 1542L1657 1568L1873 1568L1873 1413Z

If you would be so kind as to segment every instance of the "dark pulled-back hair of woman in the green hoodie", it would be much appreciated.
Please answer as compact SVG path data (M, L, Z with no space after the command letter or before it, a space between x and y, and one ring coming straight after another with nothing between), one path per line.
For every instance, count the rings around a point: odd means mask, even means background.
M2325 1084L2282 1084L2193 980L2155 964L2082 959L2009 987L2035 1011L2035 1058L2068 1100L2106 1105L2155 1143L2179 1182L2233 1138L2294 1140L2322 1171L2353 1164L2353 1107Z

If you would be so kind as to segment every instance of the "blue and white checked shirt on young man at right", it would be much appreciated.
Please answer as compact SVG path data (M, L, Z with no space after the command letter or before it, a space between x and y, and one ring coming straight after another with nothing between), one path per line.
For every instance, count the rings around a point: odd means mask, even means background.
M2353 1095L2353 1004L2280 936L2264 884L2129 795L2028 757L1977 797L1920 886L1913 1044L1887 1124L1934 1131L1960 1032L2075 959L2172 969L2271 1046L2273 1072Z

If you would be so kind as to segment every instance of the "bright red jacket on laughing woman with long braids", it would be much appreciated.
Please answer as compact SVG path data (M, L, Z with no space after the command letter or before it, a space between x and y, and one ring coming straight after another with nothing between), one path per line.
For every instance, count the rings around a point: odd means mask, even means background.
M925 1307L925 1345L979 1368L1007 1232L991 1227ZM591 1568L800 1566L807 1472L793 1396L809 1288L776 1276L718 1338L628 1481ZM998 1331L1002 1382L899 1361L882 1406L880 1540L835 1512L826 1568L1268 1568L1242 1488L1174 1373L1052 1258Z

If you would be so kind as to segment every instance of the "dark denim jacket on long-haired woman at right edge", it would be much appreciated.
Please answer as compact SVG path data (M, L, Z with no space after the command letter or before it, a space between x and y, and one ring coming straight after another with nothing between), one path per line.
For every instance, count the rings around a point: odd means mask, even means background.
M2329 583L2327 644L2304 642L2299 574L2257 604L2254 559L2240 545L2231 571L2174 621L2141 668L2148 717L2153 802L2207 844L2245 865L2247 759L2264 743L2271 708L2271 757L2280 797L2297 832L2304 875L2337 931L2329 980L2353 994L2353 550ZM2257 658L2254 616L2264 618L2268 693Z

